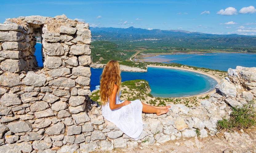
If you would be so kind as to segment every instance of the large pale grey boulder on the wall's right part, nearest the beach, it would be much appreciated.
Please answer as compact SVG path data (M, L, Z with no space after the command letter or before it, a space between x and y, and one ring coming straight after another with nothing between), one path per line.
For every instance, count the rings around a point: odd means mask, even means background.
M236 97L236 87L230 84L227 80L222 80L216 85L216 91L220 91L226 97Z

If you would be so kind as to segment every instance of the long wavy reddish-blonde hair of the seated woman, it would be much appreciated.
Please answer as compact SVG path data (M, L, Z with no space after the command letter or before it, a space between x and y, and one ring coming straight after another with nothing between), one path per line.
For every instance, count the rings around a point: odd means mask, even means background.
M117 93L121 90L121 76L119 63L117 61L109 61L103 69L100 76L100 98L102 105L106 105L114 89L114 84L118 86Z

